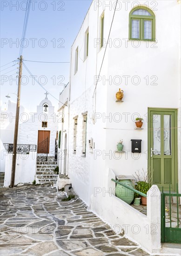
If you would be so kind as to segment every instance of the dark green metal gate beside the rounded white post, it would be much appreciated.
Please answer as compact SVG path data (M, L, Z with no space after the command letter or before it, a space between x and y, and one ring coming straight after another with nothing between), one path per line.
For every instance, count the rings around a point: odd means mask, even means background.
M168 207L165 202L166 196L169 197ZM172 196L176 197L176 200L172 203ZM176 193L164 192L162 188L161 194L161 243L181 243L181 206L179 206L179 197L181 194L178 193L178 184ZM175 210L176 204L176 212ZM168 213L168 222L166 222L166 212ZM179 219L180 217L180 219ZM174 220L174 222L172 222ZM166 224L167 223L167 224ZM180 227L179 227L180 226Z

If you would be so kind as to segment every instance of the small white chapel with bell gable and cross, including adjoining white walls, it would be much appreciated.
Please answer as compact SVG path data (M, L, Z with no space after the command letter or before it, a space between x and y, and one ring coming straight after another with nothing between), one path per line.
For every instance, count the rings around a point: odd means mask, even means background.
M1 145L1 171L5 172L5 187L10 184L11 179L14 120L12 123L10 115L13 113L15 116L15 105L9 101L7 111L2 113L4 123L2 122L1 141L4 146ZM36 113L28 113L25 109L20 110L15 184L33 182L37 161L54 159L55 141L58 136L56 115L54 106L47 98L47 93L45 99L37 106Z

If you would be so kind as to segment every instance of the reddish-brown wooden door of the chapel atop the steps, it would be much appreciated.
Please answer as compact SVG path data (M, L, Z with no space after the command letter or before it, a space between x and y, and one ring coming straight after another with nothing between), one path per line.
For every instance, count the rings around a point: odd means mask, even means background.
M49 154L49 148L50 148L50 131L38 131L37 153Z

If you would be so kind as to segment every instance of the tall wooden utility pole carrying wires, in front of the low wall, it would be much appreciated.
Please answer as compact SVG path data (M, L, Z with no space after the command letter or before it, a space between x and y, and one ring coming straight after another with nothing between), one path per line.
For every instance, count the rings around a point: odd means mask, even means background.
M17 151L17 141L18 141L18 124L19 124L19 115L20 115L20 93L21 93L21 75L22 75L22 60L23 56L20 58L20 69L18 76L18 95L17 95L17 103L16 103L16 119L14 126L14 141L13 141L13 160L12 160L12 169L11 169L11 184L10 188L14 187L14 179L15 179L15 171L16 171L16 151Z

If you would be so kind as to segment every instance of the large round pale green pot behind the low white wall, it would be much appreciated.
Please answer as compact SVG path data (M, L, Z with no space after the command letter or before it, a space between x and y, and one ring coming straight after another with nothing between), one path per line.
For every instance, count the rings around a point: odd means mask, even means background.
M131 180L118 181L134 189L134 184L131 182ZM133 202L134 191L123 187L121 184L116 185L115 193L117 197L119 197L122 201L127 202L128 204Z

